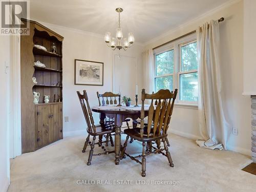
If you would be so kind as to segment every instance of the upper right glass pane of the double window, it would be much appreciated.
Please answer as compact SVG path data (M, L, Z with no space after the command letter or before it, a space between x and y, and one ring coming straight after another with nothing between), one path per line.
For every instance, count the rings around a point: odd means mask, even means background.
M181 71L197 70L197 42L181 47Z

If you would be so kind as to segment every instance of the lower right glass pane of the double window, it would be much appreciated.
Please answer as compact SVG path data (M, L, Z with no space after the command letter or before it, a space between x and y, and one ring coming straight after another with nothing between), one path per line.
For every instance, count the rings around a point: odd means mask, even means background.
M197 72L180 75L180 100L198 101Z

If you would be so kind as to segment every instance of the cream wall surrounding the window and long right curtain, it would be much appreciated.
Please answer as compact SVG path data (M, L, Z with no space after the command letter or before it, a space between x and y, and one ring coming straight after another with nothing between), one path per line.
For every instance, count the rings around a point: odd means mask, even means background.
M146 48L154 48L168 40L197 29L206 21L224 17L220 24L221 60L224 104L228 109L228 118L233 127L239 129L239 135L230 134L228 148L250 155L251 126L250 98L243 92L243 1L235 1L212 10L190 22L147 43ZM255 49L254 49L255 50ZM255 65L254 65L255 66ZM200 138L197 110L175 108L171 126L174 133L190 138Z

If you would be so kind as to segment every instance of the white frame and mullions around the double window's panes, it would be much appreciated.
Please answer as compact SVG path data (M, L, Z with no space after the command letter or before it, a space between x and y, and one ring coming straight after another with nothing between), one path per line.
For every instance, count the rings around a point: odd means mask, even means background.
M175 88L178 89L178 95L176 98L176 106L185 107L185 108L195 108L198 107L198 102L192 102L192 101L182 101L180 100L180 75L181 74L187 74L187 73L195 73L198 72L198 70L190 70L190 71L181 71L181 47L191 44L193 42L196 42L196 33L188 35L186 37L183 37L181 39L178 39L176 41L170 42L167 45L161 46L154 50L154 66L155 66L155 78L154 78L154 84L155 79L157 77L164 77L164 76L170 76L173 75L173 90ZM166 74L157 76L156 75L156 55L161 54L166 51L174 50L174 73L173 74Z

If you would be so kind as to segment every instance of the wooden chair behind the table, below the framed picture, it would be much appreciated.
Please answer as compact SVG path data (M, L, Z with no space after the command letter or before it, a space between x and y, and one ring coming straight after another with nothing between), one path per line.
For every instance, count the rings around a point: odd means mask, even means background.
M97 97L99 101L99 106L104 106L104 105L109 105L109 104L117 104L117 98L118 98L118 104L117 106L122 106L121 105L121 95L120 94L115 94L112 92L105 92L103 94L99 94L97 91ZM113 124L114 123L114 114L105 114L105 124ZM123 122L126 122L126 126L128 129L130 129L129 126L129 121L130 119L124 119ZM106 135L106 140L109 140L109 136ZM131 139L132 142L132 139ZM106 146L108 146L108 142L106 142Z

